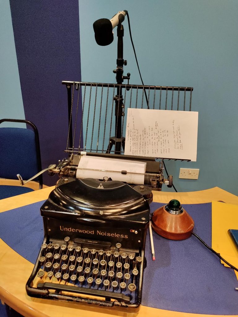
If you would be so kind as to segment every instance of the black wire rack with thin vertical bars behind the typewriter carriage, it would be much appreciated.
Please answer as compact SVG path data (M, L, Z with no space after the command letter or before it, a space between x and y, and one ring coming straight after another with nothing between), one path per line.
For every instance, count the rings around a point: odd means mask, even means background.
M68 139L65 152L124 154L128 108L191 111L192 87L143 86L62 81L68 93ZM120 92L121 100L115 96ZM148 104L145 98L148 97ZM116 118L121 117L121 120ZM115 131L113 129L115 126ZM119 139L112 137L119 135ZM119 153L113 141L121 142ZM115 144L115 143L114 143ZM157 159L166 159L158 157ZM176 158L173 158L176 160ZM187 161L190 161L189 159Z

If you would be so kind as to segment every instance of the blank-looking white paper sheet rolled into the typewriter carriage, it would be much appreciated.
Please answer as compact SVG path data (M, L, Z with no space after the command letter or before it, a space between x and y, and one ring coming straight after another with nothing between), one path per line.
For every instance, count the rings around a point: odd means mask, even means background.
M134 162L124 159L109 159L94 156L82 156L79 161L76 178L99 178L105 176L111 177L113 180L119 180L130 184L144 184L144 175L121 174L108 171L127 171L145 173L146 163ZM93 170L90 170L93 169ZM106 170L106 171L95 171Z

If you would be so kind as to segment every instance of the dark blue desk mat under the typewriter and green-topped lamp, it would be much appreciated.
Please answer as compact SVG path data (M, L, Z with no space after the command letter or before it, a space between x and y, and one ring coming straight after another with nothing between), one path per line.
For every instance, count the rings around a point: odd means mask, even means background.
M0 237L35 264L43 240L38 202L0 213ZM163 204L152 203L151 212ZM194 232L211 245L211 204L184 204L195 221ZM148 230L149 231L149 230ZM156 261L147 232L142 305L195 314L238 314L235 273L194 236L171 241L153 232ZM29 273L30 274L30 273Z

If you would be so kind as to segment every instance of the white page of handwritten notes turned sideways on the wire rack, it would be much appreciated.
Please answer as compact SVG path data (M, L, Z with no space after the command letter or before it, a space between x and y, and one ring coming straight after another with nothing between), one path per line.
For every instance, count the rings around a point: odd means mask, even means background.
M125 154L196 161L197 126L194 111L128 109Z

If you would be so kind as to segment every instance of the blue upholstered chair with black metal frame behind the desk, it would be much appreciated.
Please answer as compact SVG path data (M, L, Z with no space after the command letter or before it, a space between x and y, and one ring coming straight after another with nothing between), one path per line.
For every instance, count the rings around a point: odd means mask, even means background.
M36 126L28 120L0 120L0 124L3 122L26 123L33 130L0 127L0 199L33 191L32 188L19 186L20 182L16 174L20 174L24 180L27 180L42 170L39 134ZM42 175L37 180L41 189Z

